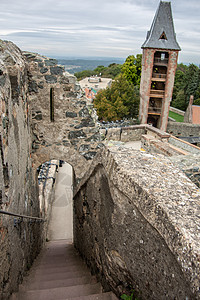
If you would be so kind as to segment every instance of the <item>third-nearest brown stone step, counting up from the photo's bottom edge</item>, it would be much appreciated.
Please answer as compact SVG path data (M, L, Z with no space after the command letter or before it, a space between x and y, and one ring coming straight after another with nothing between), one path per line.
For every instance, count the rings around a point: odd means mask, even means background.
M82 276L82 277L74 277L74 278L66 278L66 279L56 279L56 280L48 280L48 281L38 281L37 279L30 280L30 282L24 283L21 287L21 291L25 290L45 290L50 288L58 288L58 287L67 287L67 286L75 286L75 285L83 285L83 284L94 284L96 283L95 276Z

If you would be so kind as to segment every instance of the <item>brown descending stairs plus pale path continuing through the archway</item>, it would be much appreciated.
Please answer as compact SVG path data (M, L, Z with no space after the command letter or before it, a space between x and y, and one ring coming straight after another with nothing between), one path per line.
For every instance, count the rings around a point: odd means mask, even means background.
M59 168L55 199L45 248L35 260L19 292L10 300L117 299L113 293L103 293L100 283L73 245L72 167Z

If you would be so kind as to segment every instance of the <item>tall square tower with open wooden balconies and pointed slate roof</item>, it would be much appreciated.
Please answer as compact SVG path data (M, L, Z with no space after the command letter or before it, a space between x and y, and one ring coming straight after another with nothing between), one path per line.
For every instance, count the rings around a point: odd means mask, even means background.
M176 41L171 2L160 1L142 49L140 122L166 131L178 52L181 50Z

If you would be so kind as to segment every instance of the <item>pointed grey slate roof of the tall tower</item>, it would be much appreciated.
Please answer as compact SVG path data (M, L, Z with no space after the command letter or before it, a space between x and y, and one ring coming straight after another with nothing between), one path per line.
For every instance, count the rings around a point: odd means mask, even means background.
M171 2L160 1L150 31L142 48L178 50L172 18Z

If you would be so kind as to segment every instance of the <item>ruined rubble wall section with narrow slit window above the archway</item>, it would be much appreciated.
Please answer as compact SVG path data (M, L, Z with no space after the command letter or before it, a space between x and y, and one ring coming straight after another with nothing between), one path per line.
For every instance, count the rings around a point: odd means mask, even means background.
M81 178L102 146L92 109L81 97L76 78L56 60L28 52L24 55L29 66L34 166L61 159Z

